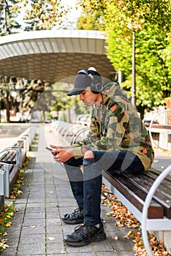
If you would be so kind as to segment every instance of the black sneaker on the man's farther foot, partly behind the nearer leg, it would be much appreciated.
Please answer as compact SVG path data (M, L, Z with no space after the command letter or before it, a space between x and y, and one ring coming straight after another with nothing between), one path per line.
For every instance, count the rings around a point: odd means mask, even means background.
M77 208L72 214L64 214L62 217L63 222L67 224L80 224L83 223L84 213L83 209Z

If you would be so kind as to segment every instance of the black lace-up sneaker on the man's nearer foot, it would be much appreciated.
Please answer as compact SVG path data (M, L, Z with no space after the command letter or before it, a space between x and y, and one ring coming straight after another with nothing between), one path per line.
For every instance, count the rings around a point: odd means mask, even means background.
M75 227L75 231L64 236L64 243L70 246L85 246L91 242L103 241L106 239L102 222L99 228L96 226L80 225Z

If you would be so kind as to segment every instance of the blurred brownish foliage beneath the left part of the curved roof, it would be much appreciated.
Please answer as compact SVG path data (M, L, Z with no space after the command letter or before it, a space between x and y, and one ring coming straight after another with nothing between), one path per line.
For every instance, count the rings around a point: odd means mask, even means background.
M1 77L1 110L7 110L7 122L9 122L10 110L20 111L20 113L23 113L23 110L31 112L35 102L48 86L50 84L42 80ZM40 110L46 111L48 110L49 99L44 98L42 100L43 104L39 105Z

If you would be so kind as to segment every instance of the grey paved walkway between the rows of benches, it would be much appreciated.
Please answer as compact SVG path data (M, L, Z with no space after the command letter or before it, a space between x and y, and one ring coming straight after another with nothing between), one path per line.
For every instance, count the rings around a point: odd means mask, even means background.
M60 164L53 161L50 152L45 149L50 143L58 144L58 138L49 125L39 125L39 134L34 142L34 151L26 170L23 195L20 195L15 207L18 211L8 228L8 249L2 256L132 256L134 243L124 238L126 227L115 226L115 218L107 217L108 206L102 205L102 218L107 240L91 243L83 247L65 246L63 236L72 233L76 225L66 225L61 221L65 213L77 207L69 187L66 173ZM156 164L164 167L164 160L170 164L171 157L159 159ZM166 163L167 164L167 163ZM119 239L115 240L115 236Z

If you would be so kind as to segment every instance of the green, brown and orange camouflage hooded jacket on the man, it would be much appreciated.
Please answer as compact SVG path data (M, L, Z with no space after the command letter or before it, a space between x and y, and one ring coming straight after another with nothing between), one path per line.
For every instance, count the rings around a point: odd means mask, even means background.
M118 83L107 83L102 104L91 110L91 125L85 140L73 146L75 158L83 157L82 148L133 151L145 170L153 162L153 148L147 129Z

